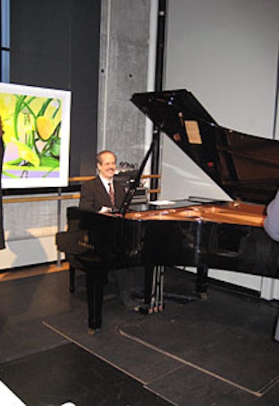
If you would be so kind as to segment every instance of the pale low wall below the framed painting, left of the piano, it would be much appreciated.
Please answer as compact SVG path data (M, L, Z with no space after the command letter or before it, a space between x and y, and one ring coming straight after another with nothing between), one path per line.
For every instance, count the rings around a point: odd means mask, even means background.
M20 197L22 196L13 196L15 199ZM37 195L36 197L43 199L50 195ZM0 269L13 269L17 266L58 260L56 232L59 231L59 221L61 221L60 230L65 230L67 207L78 204L78 199L61 201L61 217L59 218L59 207L56 200L7 203L4 197L3 225L6 249L0 250Z

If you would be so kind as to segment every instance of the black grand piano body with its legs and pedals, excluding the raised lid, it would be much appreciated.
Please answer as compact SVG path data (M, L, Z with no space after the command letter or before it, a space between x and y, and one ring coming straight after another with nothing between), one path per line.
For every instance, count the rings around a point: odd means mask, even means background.
M211 211L213 218L216 217L216 204L202 205L196 218L192 213L196 206L187 206L186 213L183 208L135 211L127 213L128 218L68 208L69 225L78 219L70 244L74 245L75 255L71 255L70 247L63 241L58 245L70 254L70 264L86 271L89 330L96 331L102 323L103 284L108 269L144 266L146 313L163 310L163 285L159 286L158 279L160 265L195 266L196 294L201 298L206 297L209 268L279 278L279 244L260 226L264 206L248 205L240 213L244 213L241 224L234 220L234 214L239 217L238 207L227 202L219 204L217 218L219 214L223 221L210 218ZM224 209L227 210L225 220ZM209 210L209 214L204 210ZM258 225L250 224L250 216L252 223L259 217L255 222Z

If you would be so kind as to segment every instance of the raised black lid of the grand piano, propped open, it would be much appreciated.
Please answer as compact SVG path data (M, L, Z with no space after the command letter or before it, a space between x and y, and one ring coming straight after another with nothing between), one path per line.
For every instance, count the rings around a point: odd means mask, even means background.
M233 200L266 204L279 186L279 142L218 126L186 89L131 101Z

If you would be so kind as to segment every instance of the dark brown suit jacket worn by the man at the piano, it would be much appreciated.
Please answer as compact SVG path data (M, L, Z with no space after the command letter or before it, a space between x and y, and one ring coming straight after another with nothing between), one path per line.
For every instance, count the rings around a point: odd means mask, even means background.
M114 181L116 209L120 208L125 195L126 193L123 186L119 182ZM82 184L80 207L91 207L94 211L99 211L102 206L112 207L112 204L107 190L105 190L102 181L99 176L97 176L96 179Z

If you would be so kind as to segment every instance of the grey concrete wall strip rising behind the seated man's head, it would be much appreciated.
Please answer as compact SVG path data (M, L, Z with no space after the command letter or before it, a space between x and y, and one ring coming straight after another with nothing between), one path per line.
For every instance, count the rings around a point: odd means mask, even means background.
M98 150L128 163L144 157L145 119L130 98L147 88L150 10L150 0L102 1Z

